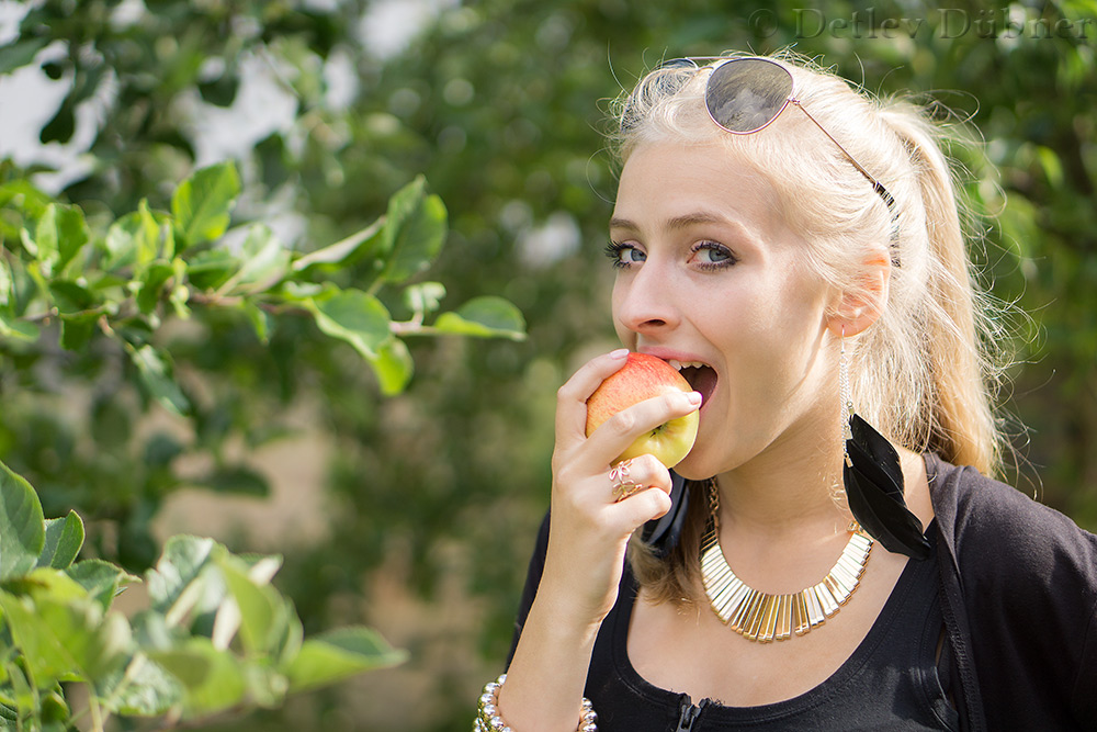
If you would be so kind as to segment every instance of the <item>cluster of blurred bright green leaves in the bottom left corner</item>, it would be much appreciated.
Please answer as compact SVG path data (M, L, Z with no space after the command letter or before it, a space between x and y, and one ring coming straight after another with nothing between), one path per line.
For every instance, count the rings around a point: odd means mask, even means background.
M113 606L140 579L77 562L84 536L76 511L45 519L34 488L0 463L0 729L103 732L114 716L171 729L406 657L367 628L303 638L270 584L280 556L197 537L168 540L131 623Z

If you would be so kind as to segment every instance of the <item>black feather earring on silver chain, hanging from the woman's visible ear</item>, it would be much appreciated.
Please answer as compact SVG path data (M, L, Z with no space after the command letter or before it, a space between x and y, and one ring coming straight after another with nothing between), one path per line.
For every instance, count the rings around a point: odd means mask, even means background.
M891 442L853 412L849 388L849 361L842 333L838 358L845 464L841 482L853 518L890 552L916 560L929 556L929 541L921 521L906 507L903 469Z

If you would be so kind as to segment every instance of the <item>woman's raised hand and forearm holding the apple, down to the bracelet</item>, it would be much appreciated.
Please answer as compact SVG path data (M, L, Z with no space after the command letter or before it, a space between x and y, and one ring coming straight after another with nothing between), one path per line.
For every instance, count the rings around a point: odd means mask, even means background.
M617 600L629 537L670 509L670 471L652 455L629 465L648 486L618 500L610 462L645 431L694 410L701 395L678 392L613 415L588 438L587 398L625 363L600 356L558 392L548 552L522 627L499 709L516 730L576 729L595 638Z

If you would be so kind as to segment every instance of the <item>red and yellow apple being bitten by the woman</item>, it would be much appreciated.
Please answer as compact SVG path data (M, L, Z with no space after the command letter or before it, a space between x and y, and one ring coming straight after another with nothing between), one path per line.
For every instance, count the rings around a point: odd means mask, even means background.
M587 399L587 437L603 421L633 404L667 392L692 391L686 378L663 359L646 353L629 353L621 370L603 381ZM653 454L667 468L674 468L693 448L699 421L697 409L666 421L636 438L613 463Z

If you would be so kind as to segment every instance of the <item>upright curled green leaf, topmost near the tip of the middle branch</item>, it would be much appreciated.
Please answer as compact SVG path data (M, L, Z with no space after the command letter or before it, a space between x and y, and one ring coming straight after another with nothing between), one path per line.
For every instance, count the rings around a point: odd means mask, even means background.
M422 176L397 191L388 201L385 216L384 282L404 282L430 267L448 230L445 204L427 194Z

